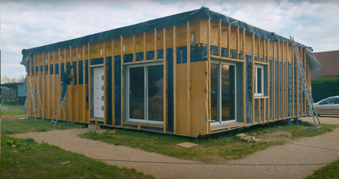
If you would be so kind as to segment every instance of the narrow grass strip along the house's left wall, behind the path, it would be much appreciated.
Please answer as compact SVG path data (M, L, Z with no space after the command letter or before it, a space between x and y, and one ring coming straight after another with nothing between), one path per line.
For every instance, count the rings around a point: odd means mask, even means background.
M87 128L87 124L66 123L64 121L58 121L57 125L49 125L51 120L46 119L44 121L33 121L32 118L23 120L16 118L1 119L1 134L11 135L25 132L46 132L47 130L65 130L71 128Z

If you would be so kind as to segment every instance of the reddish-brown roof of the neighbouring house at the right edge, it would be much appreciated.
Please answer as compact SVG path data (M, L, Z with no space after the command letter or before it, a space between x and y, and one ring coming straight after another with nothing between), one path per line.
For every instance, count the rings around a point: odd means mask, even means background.
M321 63L319 71L312 71L311 78L339 78L339 50L313 53Z

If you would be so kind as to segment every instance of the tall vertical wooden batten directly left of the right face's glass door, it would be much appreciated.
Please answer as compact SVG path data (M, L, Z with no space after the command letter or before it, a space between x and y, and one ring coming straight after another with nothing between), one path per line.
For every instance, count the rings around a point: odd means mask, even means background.
M208 62L208 133L210 133L210 18L207 20L207 62ZM230 54L230 45L228 48Z

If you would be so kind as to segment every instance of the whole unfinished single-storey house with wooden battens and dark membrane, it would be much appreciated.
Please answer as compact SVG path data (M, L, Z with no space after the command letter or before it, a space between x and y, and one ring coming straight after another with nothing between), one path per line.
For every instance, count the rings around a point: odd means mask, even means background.
M310 81L319 63L297 46ZM290 39L205 7L22 52L45 118L69 64L79 123L201 137L307 116Z

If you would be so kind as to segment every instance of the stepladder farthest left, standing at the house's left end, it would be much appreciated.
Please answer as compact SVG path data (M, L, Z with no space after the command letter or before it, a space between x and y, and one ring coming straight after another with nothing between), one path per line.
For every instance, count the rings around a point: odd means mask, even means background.
M44 121L44 113L42 112L42 105L40 99L39 86L37 85L37 78L30 78L30 90L28 90L28 98L25 101L25 118L34 116L35 121ZM41 119L37 119L41 118Z

